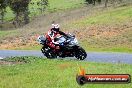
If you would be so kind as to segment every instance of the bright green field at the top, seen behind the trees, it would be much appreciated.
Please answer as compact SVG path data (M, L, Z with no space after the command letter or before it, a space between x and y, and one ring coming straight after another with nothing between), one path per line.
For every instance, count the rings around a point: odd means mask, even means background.
M36 3L38 1L40 0L32 0L31 3L34 2L35 4L29 4L29 11L31 13L30 17L42 14L40 10L38 10L39 6ZM48 0L48 1L49 1L49 5L44 13L77 8L77 7L81 7L82 4L84 3L84 0ZM13 19L14 14L11 11L11 9L8 7L6 10L7 13L5 16L5 20Z

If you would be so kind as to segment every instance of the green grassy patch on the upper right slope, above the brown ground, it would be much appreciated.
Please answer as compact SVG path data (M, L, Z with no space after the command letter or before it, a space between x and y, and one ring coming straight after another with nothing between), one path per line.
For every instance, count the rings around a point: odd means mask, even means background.
M90 25L102 24L120 24L132 20L132 6L123 6L115 9L99 11L92 16L85 17L81 20L71 23L74 27L83 27Z

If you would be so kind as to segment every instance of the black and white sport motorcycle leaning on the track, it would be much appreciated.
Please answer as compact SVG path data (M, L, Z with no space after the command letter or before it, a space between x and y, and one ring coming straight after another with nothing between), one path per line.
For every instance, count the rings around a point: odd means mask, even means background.
M61 35L56 37L54 41L59 43L60 50L54 50L47 45L47 39L41 35L38 37L38 42L42 45L42 53L47 58L65 58L76 57L79 60L84 60L87 57L85 50L79 46L75 35L67 34L68 38Z

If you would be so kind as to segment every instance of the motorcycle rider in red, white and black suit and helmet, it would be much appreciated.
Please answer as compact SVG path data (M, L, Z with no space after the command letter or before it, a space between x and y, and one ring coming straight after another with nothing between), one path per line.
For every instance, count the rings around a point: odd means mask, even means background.
M64 35L64 36L68 37L64 32L60 31L59 24L52 24L51 29L46 34L46 39L48 41L47 45L55 50L60 49L59 43L55 41L55 38L58 35Z

